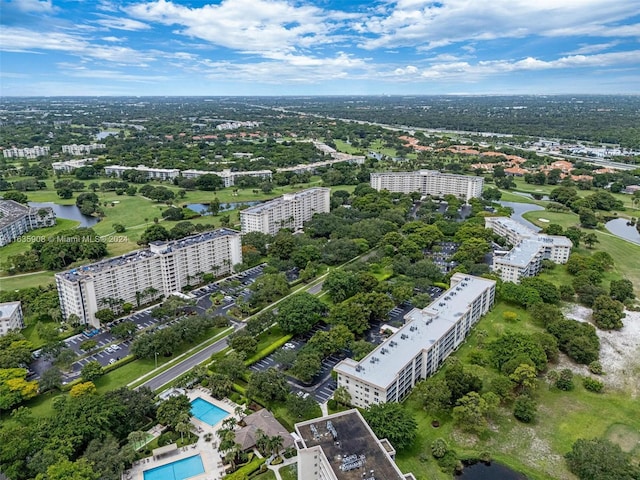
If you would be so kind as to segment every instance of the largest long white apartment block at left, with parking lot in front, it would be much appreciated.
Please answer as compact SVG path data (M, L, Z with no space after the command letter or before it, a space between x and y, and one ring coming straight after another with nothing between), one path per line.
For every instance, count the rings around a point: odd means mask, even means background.
M199 281L203 273L231 273L242 263L240 233L221 228L148 249L74 268L55 275L60 309L98 327L95 313L107 299L133 305L170 295Z

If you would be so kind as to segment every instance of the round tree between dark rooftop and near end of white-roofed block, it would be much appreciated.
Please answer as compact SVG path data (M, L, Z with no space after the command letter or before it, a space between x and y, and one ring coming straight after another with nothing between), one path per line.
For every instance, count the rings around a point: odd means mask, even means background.
M413 445L418 424L413 415L399 403L371 405L362 415L376 436L388 439L398 451Z

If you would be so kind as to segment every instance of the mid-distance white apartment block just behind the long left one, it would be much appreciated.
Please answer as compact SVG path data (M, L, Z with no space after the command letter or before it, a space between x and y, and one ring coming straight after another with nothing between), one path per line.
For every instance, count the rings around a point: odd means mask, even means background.
M330 189L315 187L287 193L270 202L240 212L242 233L262 232L275 235L281 228L297 230L315 213L331 208Z

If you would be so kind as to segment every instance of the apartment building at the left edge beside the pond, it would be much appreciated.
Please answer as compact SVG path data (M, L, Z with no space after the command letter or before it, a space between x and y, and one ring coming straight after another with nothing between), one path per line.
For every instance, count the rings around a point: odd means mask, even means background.
M56 224L51 207L33 208L13 200L0 200L0 247L31 230Z

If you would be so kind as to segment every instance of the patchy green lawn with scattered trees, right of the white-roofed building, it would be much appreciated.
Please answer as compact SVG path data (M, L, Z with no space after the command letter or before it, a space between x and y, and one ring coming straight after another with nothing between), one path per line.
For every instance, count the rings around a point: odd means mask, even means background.
M505 323L502 314L507 310L518 313L520 320ZM539 330L529 322L525 311L502 303L480 321L476 332L478 329L489 333L487 340L500 333ZM456 356L464 359L477 348L474 332ZM466 368L483 378L485 389L488 380L496 375L489 367L467 365ZM550 368L557 367L551 365ZM431 443L438 437L444 438L461 458L477 458L481 452L489 452L494 460L525 473L531 480L573 478L562 457L578 438L607 436L620 439L636 456L640 455L640 448L636 448L638 436L629 439L625 433L640 432L640 402L625 392L595 394L585 391L579 379L576 378L575 383L572 392L561 392L550 390L540 380L535 393L538 415L533 424L522 424L513 418L510 409L501 408L487 432L479 437L454 428L449 416L424 411L418 399L410 396L404 405L418 422L418 439L413 448L398 455L398 465L403 472L413 472L416 478L450 480L451 476L440 472L429 453ZM431 426L434 419L440 421L439 428Z

